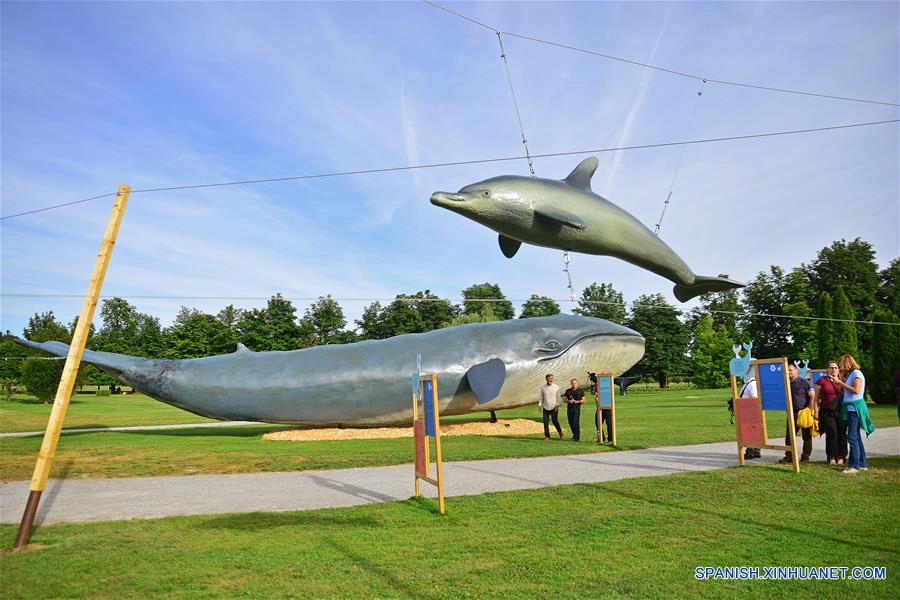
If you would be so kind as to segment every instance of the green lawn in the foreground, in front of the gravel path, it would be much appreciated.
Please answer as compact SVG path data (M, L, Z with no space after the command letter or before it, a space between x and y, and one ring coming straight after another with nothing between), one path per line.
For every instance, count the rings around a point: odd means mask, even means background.
M4 598L898 598L900 459L291 513L38 527ZM15 527L0 527L9 548ZM698 566L874 566L884 581L697 581Z

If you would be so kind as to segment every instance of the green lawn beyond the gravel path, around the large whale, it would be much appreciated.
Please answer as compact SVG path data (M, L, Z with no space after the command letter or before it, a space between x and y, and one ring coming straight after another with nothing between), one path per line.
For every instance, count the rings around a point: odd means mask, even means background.
M670 392L631 393L616 401L619 449L630 450L655 446L700 444L733 441L734 425L726 408L728 390L677 390ZM114 398L115 400L111 400ZM185 422L189 413L140 396L78 397L71 407L76 420L93 419L93 424L121 422L141 423L148 410L159 410L170 422ZM110 404L114 402L114 404ZM132 404L132 402L134 402ZM11 405L11 406L10 406ZM5 408L16 428L18 411L32 405L9 403ZM40 405L43 406L43 405ZM107 419L96 416L103 411ZM872 409L876 425L897 424L896 409L876 406ZM84 417L84 415L92 415ZM606 452L610 448L591 442L593 410L585 406L582 413L582 442L568 439L544 442L543 436L460 436L442 440L444 460L478 460L510 457L548 456L558 454ZM447 418L445 422L484 419L486 414ZM501 412L502 418L538 420L537 408L520 408ZM195 417L196 418L196 417ZM784 431L782 417L770 415L769 431L773 437ZM565 419L561 418L563 427ZM67 424L69 418L67 417ZM83 426L82 423L81 426ZM222 428L177 430L73 433L63 435L57 448L51 476L55 478L135 477L150 475L184 475L196 473L247 473L258 471L292 471L383 466L412 462L409 438L272 442L261 435L283 428L276 425L248 425ZM34 469L41 438L0 438L0 478L4 481L28 479Z

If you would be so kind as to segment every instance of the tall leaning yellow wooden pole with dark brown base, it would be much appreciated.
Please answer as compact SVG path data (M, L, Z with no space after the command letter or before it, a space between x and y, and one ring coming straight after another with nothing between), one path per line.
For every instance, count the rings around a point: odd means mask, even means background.
M16 536L15 548L23 548L31 537L31 527L34 524L34 516L37 513L41 493L47 485L50 476L50 468L56 456L56 444L59 442L59 433L62 430L63 419L69 408L69 399L75 387L75 377L78 375L78 367L84 354L84 345L91 330L91 322L94 320L94 309L97 308L97 300L100 297L100 288L103 286L103 278L106 276L106 268L112 255L116 236L119 233L119 225L122 223L122 214L125 212L125 204L131 188L125 184L119 186L119 193L113 201L112 212L103 232L103 241L100 243L100 251L94 263L94 271L88 283L87 294L78 315L78 324L72 336L72 344L69 346L69 354L66 356L66 365L63 367L62 378L56 390L56 398L53 400L53 409L50 411L50 420L47 423L47 431L44 433L44 441L38 452L37 464L34 466L34 474L31 476L31 486L25 512L22 514L22 522L19 525L19 533Z

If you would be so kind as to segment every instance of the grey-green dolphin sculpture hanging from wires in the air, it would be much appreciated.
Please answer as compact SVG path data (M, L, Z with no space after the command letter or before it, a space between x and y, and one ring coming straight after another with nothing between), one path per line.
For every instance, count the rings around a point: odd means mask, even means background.
M498 232L507 258L515 256L523 242L614 256L673 281L681 302L744 286L725 277L695 275L643 223L591 191L597 165L595 157L586 158L562 181L502 175L455 194L435 192L431 203Z

